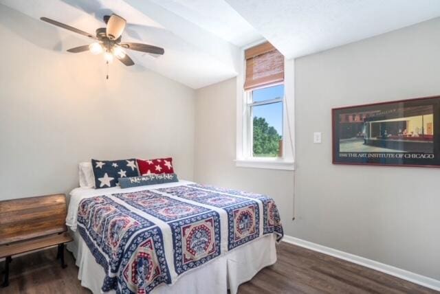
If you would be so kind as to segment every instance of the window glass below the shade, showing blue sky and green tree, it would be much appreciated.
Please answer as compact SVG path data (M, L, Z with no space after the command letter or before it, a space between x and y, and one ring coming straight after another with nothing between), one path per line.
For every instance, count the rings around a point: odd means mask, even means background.
M283 157L284 85L255 89L249 95L252 157Z

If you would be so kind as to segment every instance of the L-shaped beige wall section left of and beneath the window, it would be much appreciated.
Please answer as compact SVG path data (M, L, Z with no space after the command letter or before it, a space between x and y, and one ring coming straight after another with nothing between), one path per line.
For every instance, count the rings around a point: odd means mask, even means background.
M272 196L285 223L292 219L294 173L236 168L236 79L197 90L195 181ZM292 226L285 227L292 234Z

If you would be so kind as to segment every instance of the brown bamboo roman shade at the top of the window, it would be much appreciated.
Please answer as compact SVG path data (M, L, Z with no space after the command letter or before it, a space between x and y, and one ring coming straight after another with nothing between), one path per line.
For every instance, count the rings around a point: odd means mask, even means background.
M283 82L284 56L269 42L245 50L245 90Z

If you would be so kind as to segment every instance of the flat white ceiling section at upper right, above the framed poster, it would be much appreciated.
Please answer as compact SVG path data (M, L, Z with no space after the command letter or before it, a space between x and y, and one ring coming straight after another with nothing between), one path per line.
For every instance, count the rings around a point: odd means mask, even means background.
M286 58L440 16L439 0L225 0Z

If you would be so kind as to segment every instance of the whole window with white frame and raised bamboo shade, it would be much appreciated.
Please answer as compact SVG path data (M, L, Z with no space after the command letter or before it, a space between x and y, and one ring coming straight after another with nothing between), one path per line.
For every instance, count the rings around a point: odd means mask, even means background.
M284 56L266 42L245 49L243 57L243 71L237 79L236 165L293 170L287 115L293 109L287 109L285 95L286 89L293 91L292 84L286 88L284 81Z

